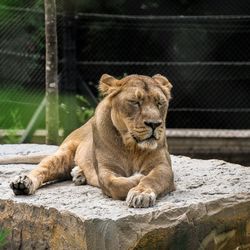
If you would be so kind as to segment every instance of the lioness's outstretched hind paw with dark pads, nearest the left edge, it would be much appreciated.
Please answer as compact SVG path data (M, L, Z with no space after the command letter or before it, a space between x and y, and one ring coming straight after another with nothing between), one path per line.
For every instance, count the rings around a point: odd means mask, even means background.
M10 187L13 189L15 195L28 195L35 192L32 180L27 175L16 177L16 179L10 183Z

